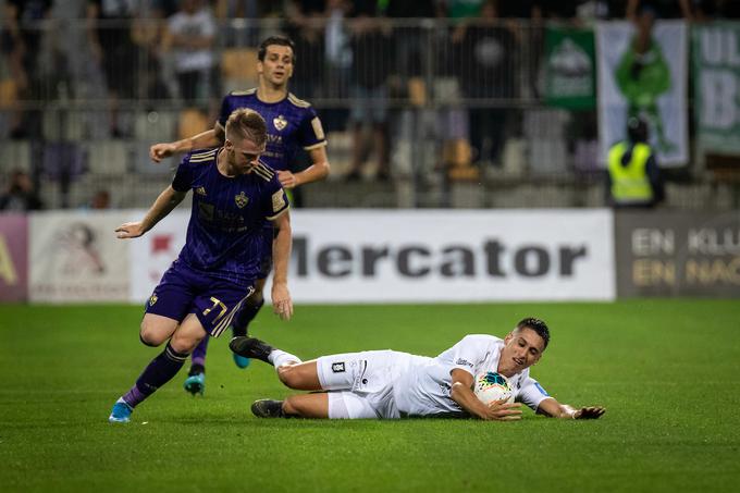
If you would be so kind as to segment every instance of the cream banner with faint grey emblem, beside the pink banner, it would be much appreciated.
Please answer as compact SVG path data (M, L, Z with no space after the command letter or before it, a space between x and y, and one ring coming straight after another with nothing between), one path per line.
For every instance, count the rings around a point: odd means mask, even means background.
M125 212L40 212L30 215L32 301L127 301L128 245L118 239Z

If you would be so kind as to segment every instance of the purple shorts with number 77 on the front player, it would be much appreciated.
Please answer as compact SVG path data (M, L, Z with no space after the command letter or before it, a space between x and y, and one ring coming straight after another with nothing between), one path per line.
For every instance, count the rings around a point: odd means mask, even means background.
M195 313L206 332L218 337L254 292L254 286L244 287L195 272L175 260L155 287L145 312L178 322L188 313Z

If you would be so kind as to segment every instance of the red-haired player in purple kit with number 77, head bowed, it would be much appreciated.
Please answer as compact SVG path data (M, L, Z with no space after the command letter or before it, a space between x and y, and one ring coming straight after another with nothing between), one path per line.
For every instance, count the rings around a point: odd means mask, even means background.
M119 238L144 235L193 189L185 246L149 298L139 332L147 346L166 347L113 405L111 422L127 422L134 407L169 382L207 334L221 335L254 296L268 221L275 229L273 308L284 320L293 315L288 200L260 161L267 124L256 111L239 109L229 116L225 137L223 147L188 153L144 219L115 230Z

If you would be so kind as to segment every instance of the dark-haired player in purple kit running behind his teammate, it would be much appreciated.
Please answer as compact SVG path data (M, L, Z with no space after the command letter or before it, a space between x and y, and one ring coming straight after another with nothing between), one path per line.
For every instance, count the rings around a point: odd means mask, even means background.
M295 53L293 41L282 36L267 38L259 46L257 72L259 86L245 91L227 95L221 104L219 121L212 130L174 143L156 144L149 149L150 158L160 162L175 152L197 148L217 147L223 144L226 119L237 108L249 108L260 113L268 125L267 149L262 161L278 171L284 188L291 189L306 183L323 180L329 174L326 139L321 121L311 106L288 93L287 84L293 75ZM289 171L298 152L298 146L309 155L311 165L299 173ZM272 227L264 229L264 243L272 241ZM234 335L246 335L249 322L254 320L264 300L262 289L270 273L272 260L266 249L261 271L255 285L255 295L244 305L233 320ZM185 380L185 390L193 395L201 394L206 385L206 352L208 337L193 352L193 365ZM249 359L234 355L239 368L246 368Z

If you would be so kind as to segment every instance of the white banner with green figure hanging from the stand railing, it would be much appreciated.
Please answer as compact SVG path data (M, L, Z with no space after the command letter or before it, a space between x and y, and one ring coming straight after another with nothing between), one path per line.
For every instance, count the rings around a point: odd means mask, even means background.
M651 41L638 54L630 22L596 26L599 66L599 147L601 162L608 149L627 137L628 116L639 115L650 127L650 143L661 167L686 164L689 159L688 35L683 21L659 21Z

